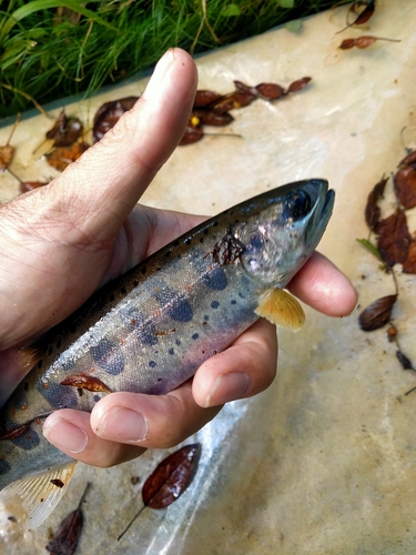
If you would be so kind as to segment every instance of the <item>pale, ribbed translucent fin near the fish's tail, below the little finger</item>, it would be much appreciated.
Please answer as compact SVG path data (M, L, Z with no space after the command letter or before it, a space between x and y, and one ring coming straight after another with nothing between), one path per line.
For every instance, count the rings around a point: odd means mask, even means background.
M8 485L3 491L13 492L23 502L29 515L29 528L40 526L61 501L77 466L71 461L44 474L29 476Z

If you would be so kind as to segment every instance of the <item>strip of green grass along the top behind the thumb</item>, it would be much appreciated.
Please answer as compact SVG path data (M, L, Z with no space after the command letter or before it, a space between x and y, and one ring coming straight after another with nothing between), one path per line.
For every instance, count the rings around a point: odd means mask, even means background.
M203 52L332 6L323 0L0 0L0 118L94 94L173 46ZM204 8L206 17L204 16Z

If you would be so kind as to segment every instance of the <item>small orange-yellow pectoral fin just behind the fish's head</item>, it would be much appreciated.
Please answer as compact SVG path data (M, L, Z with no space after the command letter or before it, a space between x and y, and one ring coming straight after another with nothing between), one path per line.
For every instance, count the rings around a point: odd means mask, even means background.
M294 332L298 332L305 323L305 313L301 304L283 289L274 289L265 293L261 297L255 313L272 324L288 327Z

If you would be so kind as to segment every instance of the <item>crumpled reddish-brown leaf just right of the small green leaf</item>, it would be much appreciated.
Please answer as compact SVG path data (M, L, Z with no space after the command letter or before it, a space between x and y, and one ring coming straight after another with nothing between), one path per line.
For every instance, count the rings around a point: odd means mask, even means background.
M389 266L405 262L410 243L405 212L397 210L390 216L381 220L374 226L374 231L379 235L377 249L384 262Z

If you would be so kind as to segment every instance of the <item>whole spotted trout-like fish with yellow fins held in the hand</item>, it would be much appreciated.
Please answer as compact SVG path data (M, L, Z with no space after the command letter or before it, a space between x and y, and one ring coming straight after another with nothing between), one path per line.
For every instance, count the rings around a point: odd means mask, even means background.
M97 291L22 349L30 372L0 412L0 490L39 526L77 461L42 435L60 408L91 412L104 395L161 395L191 379L258 317L294 331L305 320L285 290L318 244L335 193L290 183L248 199L175 239Z

